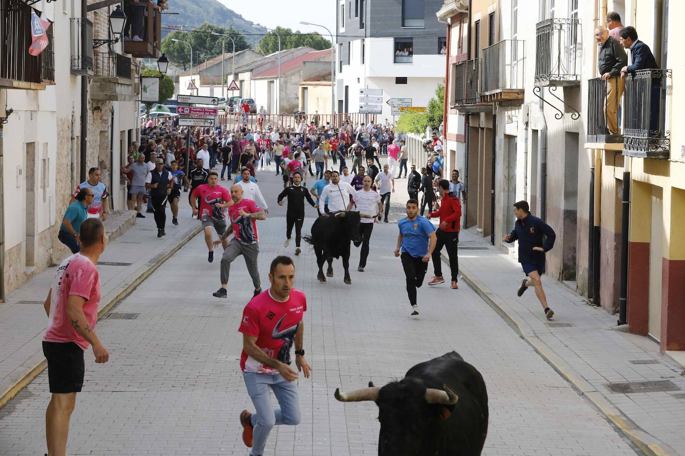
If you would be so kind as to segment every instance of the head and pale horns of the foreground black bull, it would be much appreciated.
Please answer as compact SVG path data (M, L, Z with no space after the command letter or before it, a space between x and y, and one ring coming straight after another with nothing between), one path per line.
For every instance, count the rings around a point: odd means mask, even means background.
M405 378L382 388L369 382L369 388L347 393L336 389L335 397L341 402L375 401L381 423L379 456L466 454L445 453L451 446L446 442L452 433L449 418L459 399L447 385L426 388L422 381Z

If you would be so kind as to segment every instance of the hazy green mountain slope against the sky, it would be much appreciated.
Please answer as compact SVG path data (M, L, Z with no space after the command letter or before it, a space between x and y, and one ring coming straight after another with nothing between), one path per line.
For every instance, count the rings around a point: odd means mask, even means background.
M266 29L261 25L248 21L216 0L172 0L169 2L169 12L178 14L162 14L162 38L172 30L181 30L181 27L166 28L169 25L182 24L199 27L205 22L221 27L232 25L234 29L245 35L245 40L252 46L256 46L262 39L261 35L256 36L253 33L266 33Z

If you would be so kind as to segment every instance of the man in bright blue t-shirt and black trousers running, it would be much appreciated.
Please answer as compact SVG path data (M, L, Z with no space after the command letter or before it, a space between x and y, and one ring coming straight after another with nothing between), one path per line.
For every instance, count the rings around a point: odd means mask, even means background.
M411 199L406 205L407 216L401 219L395 256L402 260L404 275L407 278L407 294L412 305L412 315L419 314L416 305L416 289L423 285L428 269L428 261L437 241L433 224L419 215L419 202Z

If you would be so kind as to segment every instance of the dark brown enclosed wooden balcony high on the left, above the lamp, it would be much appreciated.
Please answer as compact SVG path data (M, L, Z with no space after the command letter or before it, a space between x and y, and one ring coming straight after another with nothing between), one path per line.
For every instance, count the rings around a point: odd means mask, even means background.
M127 21L123 33L123 49L140 58L157 58L162 47L162 14L152 1L123 2Z

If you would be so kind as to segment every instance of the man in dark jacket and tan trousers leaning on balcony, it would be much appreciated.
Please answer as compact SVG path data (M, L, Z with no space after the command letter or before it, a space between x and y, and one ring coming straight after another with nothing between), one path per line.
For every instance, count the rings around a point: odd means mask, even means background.
M625 89L625 83L621 79L621 68L628 63L628 57L618 40L609 36L606 27L600 25L595 29L595 40L599 44L597 68L601 75L600 79L606 81L606 100L604 100L606 126L609 133L619 135L619 100Z

